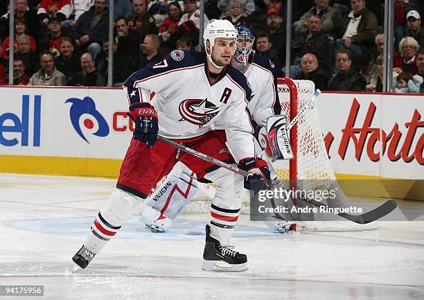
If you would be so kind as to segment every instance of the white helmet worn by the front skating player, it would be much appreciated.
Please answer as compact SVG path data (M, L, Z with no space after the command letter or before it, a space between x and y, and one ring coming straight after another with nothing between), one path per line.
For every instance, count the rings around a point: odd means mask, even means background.
M217 20L211 19L206 28L204 28L203 32L203 42L206 48L206 41L209 39L211 43L211 53L208 53L206 50L206 54L208 55L209 61L212 62L212 48L213 44L215 44L215 39L217 37L231 37L236 41L237 30L228 20ZM213 62L212 62L213 63ZM215 67L218 67L215 65Z

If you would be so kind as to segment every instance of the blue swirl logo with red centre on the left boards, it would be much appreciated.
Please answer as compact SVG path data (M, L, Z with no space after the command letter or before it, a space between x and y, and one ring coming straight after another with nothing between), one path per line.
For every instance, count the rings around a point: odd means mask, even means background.
M85 126L85 131L95 130L95 127L98 127L97 131L93 134L95 136L107 136L109 134L109 126L106 123L105 118L98 112L96 109L96 103L90 97L84 97L82 100L78 98L69 98L65 103L72 103L71 109L69 109L69 116L71 117L71 123L73 129L78 133L81 138L90 143L87 138L82 133L80 127L80 118L83 116L84 120L82 124ZM95 119L96 123L93 122L92 118Z

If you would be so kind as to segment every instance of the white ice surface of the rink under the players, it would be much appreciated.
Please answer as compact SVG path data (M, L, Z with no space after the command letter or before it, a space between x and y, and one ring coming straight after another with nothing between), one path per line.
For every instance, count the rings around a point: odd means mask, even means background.
M134 213L86 270L72 272L114 184L0 174L0 285L44 285L44 297L1 299L424 299L424 222L281 236L243 215L233 244L249 270L221 274L200 269L207 215L182 215L154 234Z

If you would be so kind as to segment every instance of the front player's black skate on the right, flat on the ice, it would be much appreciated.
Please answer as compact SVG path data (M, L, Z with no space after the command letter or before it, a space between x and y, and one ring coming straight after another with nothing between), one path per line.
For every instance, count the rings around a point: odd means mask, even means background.
M206 225L206 245L204 245L202 270L242 272L247 270L247 256L233 250L231 246L221 246L209 234L211 227Z

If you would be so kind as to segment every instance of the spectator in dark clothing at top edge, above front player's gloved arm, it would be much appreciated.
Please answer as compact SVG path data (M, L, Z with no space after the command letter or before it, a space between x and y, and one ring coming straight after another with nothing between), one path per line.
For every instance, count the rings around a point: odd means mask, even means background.
M130 30L136 30L139 33L139 39L142 41L145 35L157 33L157 27L154 24L154 17L148 13L145 0L132 0L134 13L128 19Z

